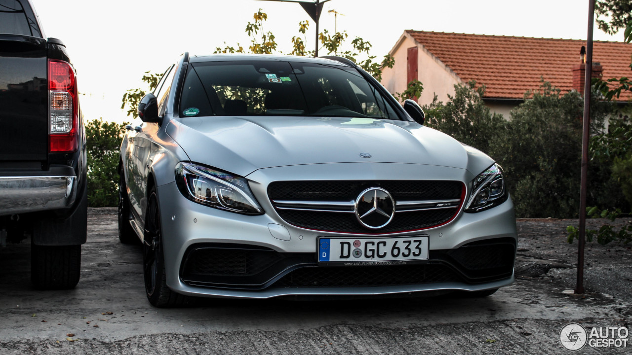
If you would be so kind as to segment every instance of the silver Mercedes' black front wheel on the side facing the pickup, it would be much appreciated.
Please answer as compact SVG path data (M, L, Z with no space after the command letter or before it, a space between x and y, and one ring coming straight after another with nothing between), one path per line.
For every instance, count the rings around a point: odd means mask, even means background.
M160 207L152 188L145 214L145 238L143 238L143 276L147 299L155 307L178 307L186 303L184 295L171 291L166 282L166 265L162 244Z

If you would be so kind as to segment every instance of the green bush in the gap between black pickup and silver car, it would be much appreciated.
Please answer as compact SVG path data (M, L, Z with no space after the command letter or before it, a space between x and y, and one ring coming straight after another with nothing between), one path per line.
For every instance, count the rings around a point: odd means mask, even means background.
M119 147L126 124L93 119L85 126L89 207L116 207L118 204Z

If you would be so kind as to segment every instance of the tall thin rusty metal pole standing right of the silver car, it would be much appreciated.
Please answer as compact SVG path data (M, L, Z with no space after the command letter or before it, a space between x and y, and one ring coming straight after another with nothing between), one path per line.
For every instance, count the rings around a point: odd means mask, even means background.
M586 76L584 78L584 121L581 137L580 240L577 251L577 286L584 293L584 246L586 237L586 184L588 181L588 134L590 131L590 81L592 80L592 35L595 0L588 0L588 39L586 40Z

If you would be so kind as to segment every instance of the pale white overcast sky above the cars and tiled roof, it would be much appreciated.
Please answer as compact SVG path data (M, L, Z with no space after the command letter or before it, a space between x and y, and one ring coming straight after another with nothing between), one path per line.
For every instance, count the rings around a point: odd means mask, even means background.
M240 43L253 13L262 8L264 30L274 33L281 52L291 51L298 23L309 20L307 49L314 46L314 23L296 3L259 0L31 0L47 37L61 39L77 71L84 119L131 121L121 98L131 88L146 89L145 71L162 73L185 51L212 54ZM312 1L312 0L304 0ZM329 13L329 10L339 13ZM331 0L324 4L319 30L346 30L350 39L372 44L382 58L404 30L586 39L588 1L579 0ZM623 41L623 30L606 35L595 25L594 40ZM319 54L324 55L321 49Z

